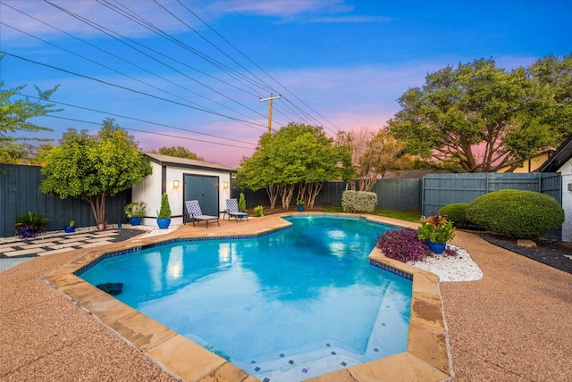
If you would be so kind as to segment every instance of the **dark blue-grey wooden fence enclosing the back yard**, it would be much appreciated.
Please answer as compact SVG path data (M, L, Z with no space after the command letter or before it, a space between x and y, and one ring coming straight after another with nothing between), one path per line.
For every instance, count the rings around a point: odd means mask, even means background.
M40 168L0 164L0 236L14 234L14 218L23 212L43 212L49 219L48 229L63 229L70 220L78 227L95 225L96 221L86 201L74 198L60 199L39 192ZM524 189L551 195L562 203L562 179L559 173L468 173L428 174L423 179L380 179L372 190L377 194L377 208L398 211L416 211L431 215L450 203L470 203L476 197L500 189ZM318 205L341 206L341 195L346 183L334 181L324 184L315 199ZM264 189L232 190L232 197L243 192L247 207L268 206ZM296 194L295 194L296 195ZM105 204L105 218L109 223L125 222L123 208L130 203L131 190L109 197ZM295 203L292 200L292 204ZM280 202L278 202L280 203ZM547 237L561 237L561 229L551 231Z

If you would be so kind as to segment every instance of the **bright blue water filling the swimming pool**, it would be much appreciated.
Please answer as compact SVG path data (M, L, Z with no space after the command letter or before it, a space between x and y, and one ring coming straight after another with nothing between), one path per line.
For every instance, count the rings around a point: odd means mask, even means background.
M254 238L193 240L80 275L261 380L301 380L406 350L411 281L369 264L392 228L300 215ZM248 224L248 223L244 223Z

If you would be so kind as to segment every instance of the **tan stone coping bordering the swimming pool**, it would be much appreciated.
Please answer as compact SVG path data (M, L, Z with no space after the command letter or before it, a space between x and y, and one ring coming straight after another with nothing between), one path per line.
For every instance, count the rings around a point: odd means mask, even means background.
M294 214L295 212L285 212L272 216L282 218L283 216ZM312 212L305 212L305 214L312 214ZM319 214L324 214L324 212L319 212ZM402 220L391 220L367 214L349 214L349 216L362 216L374 222L416 228L415 223L408 223ZM249 237L264 235L276 229L286 228L290 224L290 222L280 219L265 228L231 236ZM229 237L229 234L224 232L189 235L189 233L178 231L180 230L161 237L136 238L113 246L121 246L120 250L135 250L142 246L154 245L173 239ZM112 295L108 295L75 275L75 272L88 265L88 263L95 261L97 258L105 255L105 253L114 252L117 252L117 250L104 248L86 253L79 259L63 265L44 278L48 284L67 296L72 303L76 303L88 311L93 317L113 329L128 343L183 380L259 380L248 375L246 371L240 370L222 357L207 351L171 328L167 328L156 320L148 318L143 313L136 311L129 305L120 302ZM368 361L348 369L332 371L308 380L371 381L385 379L392 381L441 381L450 378L453 372L450 364L447 327L443 314L439 278L433 273L389 259L377 247L370 253L369 258L374 266L381 268L391 267L411 275L413 295L411 299L407 351L379 360ZM192 359L192 362L189 362L189 359Z

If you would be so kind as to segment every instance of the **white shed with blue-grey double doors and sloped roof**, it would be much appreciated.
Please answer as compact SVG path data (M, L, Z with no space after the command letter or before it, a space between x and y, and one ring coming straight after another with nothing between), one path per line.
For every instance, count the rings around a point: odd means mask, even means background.
M195 161L162 154L146 154L153 172L133 186L131 198L147 203L142 223L155 225L161 195L169 195L172 224L185 221L184 203L198 200L206 215L219 216L231 197L231 175L236 169L220 163Z

